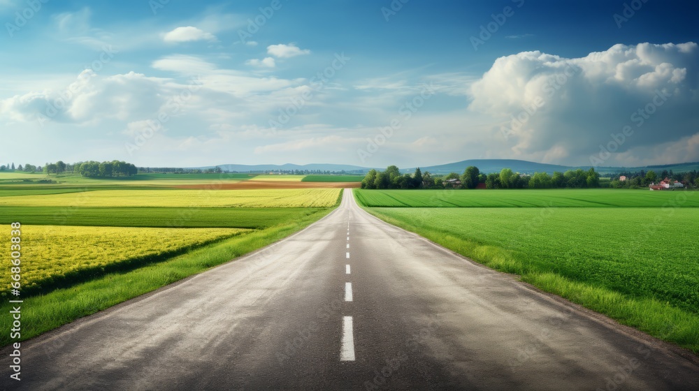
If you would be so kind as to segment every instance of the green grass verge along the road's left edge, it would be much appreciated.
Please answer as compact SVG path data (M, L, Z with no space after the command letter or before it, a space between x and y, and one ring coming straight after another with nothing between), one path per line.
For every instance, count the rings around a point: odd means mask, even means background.
M107 309L260 249L322 219L332 209L319 209L301 219L225 239L157 264L129 272L106 274L71 288L27 297L22 303L21 340L36 337L43 332L71 323L75 319ZM10 309L9 303L0 305L2 313L8 313ZM9 316L0 317L1 330L10 330L10 320ZM0 346L6 346L11 341L16 340L10 340L9 332L0 334Z

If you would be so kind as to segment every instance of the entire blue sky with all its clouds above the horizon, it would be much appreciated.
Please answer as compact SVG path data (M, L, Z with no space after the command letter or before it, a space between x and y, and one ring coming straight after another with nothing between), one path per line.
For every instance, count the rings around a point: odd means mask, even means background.
M2 163L699 161L691 1L44 1L0 0Z

